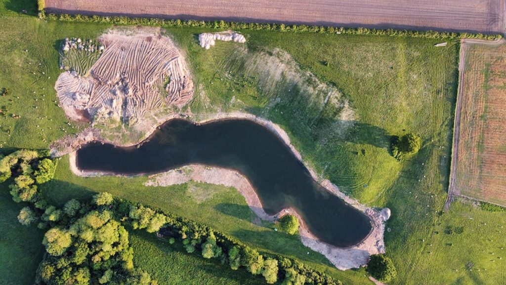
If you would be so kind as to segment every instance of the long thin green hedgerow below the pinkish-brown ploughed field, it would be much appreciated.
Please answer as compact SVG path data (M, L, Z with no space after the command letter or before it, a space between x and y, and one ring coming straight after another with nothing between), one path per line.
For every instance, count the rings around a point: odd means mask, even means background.
M313 33L333 33L333 34L358 34L358 35L388 35L399 37L425 37L425 38L478 38L478 39L499 39L501 34L483 34L467 32L438 32L438 31L412 31L398 29L372 29L372 28L345 28L333 26L311 26L311 25L286 25L275 23L245 23L228 22L223 20L216 21L198 21L198 20L177 20L177 19L159 19L159 18L137 18L126 16L88 16L88 15L69 15L69 14L46 14L44 11L39 13L39 18L47 20L65 21L65 22L90 22L90 23L109 23L116 25L143 25L143 26L164 26L164 27L200 27L209 29L235 29L235 30L264 30L280 32L313 32Z

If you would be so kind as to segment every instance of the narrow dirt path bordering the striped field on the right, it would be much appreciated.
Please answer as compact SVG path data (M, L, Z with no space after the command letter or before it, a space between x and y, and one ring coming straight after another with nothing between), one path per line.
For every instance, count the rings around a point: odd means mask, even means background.
M459 193L455 193L455 176L458 163L458 142L460 136L460 111L462 108L462 90L464 82L464 74L466 70L466 52L470 45L484 45L495 47L506 43L504 38L499 40L483 40L483 39L470 39L464 38L460 41L460 53L458 61L458 92L457 92L457 105L455 106L455 124L453 126L453 146L452 146L452 158L450 168L450 183L448 185L448 196L444 203L444 212L448 212L451 206L451 200L453 196Z

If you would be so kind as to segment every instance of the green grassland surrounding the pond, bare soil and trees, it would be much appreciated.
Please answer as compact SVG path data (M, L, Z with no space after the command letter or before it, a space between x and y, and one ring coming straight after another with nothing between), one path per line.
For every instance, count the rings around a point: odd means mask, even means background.
M7 115L0 117L4 152L47 148L51 141L85 127L66 124L63 111L53 102L54 83L61 72L57 47L65 37L96 38L110 27L45 22L16 12L30 11L30 7L33 8L31 1L0 0L0 88L11 91L10 96L0 97L0 106L8 109ZM194 73L197 90L190 107L197 116L242 110L266 117L287 131L307 164L321 176L370 206L392 210L386 245L399 271L392 284L505 281L504 258L497 257L501 257L502 245L498 241L506 217L481 211L466 201L456 201L451 212L441 214L448 186L456 96L456 43L435 48L434 44L441 40L243 31L251 57L275 62L273 51L285 51L300 69L286 69L296 70L287 74L311 72L319 82L340 94L337 102L349 102L352 124L343 125L350 122L340 121L343 110L337 105L311 105L319 99L307 97L300 89L305 86L304 80L295 85L299 88L298 97L291 90L280 88L264 92L259 81L246 72L246 61L243 68L230 60L237 59L244 45L219 42L205 51L196 40L202 30L167 31L186 54ZM287 66L293 67L288 64L283 68ZM263 69L258 72L269 74ZM280 86L284 84L281 81ZM297 100L290 100L293 98ZM12 118L12 113L21 117ZM420 135L423 147L416 156L399 162L389 154L389 136L405 132ZM146 179L76 177L68 169L67 157L63 157L55 180L46 184L44 190L50 200L60 205L71 197L85 198L97 191L108 191L212 225L262 250L301 259L347 284L370 283L363 269L339 271L323 256L303 247L297 237L275 232L268 224L252 223L253 214L234 189L193 183L145 187L142 184ZM6 189L2 191L0 203L8 209L8 215L3 216L0 230L9 231L8 238L2 236L1 250L6 251L0 257L2 265L22 256L40 256L41 233L17 223L19 206L10 200ZM463 227L463 232L446 234L448 226ZM217 284L256 282L249 280L247 274L209 269L213 266L208 261L162 244L153 235L133 233L132 242L137 264L162 284L171 280L198 283L203 278ZM469 262L474 264L472 271L466 270ZM37 260L19 260L9 270L0 269L5 270L0 273L9 284L10 280L29 284L30 276L18 276L28 269L32 272L37 264ZM171 268L198 270L178 275L180 271Z

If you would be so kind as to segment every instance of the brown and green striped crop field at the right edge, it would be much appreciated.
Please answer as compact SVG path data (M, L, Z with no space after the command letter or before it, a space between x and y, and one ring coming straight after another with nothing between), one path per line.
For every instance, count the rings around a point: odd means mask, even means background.
M506 45L466 45L455 190L506 206Z

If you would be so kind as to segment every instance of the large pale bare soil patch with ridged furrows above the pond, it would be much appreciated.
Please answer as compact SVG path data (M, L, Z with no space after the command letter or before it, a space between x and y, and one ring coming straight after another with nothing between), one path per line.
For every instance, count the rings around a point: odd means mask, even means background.
M192 98L185 59L159 29L111 30L99 42L104 51L89 75L65 71L56 82L60 105L70 118L142 133Z

